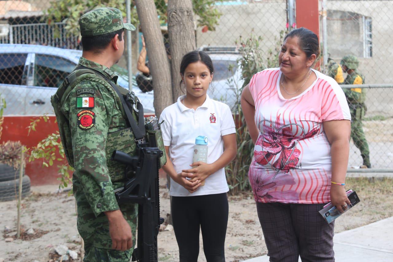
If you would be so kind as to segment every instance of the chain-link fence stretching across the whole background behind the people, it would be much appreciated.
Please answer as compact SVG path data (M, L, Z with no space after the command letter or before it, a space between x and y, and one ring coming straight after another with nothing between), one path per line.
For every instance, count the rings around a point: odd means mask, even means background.
M53 10L48 12L53 3L59 2L64 2L64 5L71 3L69 0L0 1L0 93L7 100L6 115L51 113L50 96L64 76L73 70L82 54L79 36L70 33L75 28L67 24L75 14L61 13L61 9L57 10L59 14ZM170 55L165 20L167 1L155 2ZM244 39L260 36L259 45L266 52L266 59L276 55L283 32L296 26L288 14L293 9L288 8L291 2L296 1L193 0L196 47L211 55L215 67L213 98L230 105L235 103L230 90L244 83L237 61L241 57L238 47ZM361 108L362 141L367 141L371 166L390 168L393 159L393 89L389 84L393 83L393 76L388 71L393 58L389 45L393 29L389 10L393 8L393 1L321 0L320 10L323 2L326 4L326 22L321 15L320 32L325 26L327 41L322 49L327 50L330 58L337 63L344 55L356 55L358 74L364 76L365 84L373 84L360 89L364 101L351 103L353 107ZM125 2L119 0L116 7L125 12ZM137 20L134 8L132 6L133 21ZM296 6L296 9L299 8L303 7ZM86 8L75 9L81 10L80 13L86 11ZM48 13L55 16L48 18ZM55 17L58 19L54 20ZM137 31L132 32L132 86L146 108L145 112L154 113L152 79L148 73L138 70L139 59L147 68L149 63L153 63L148 57L140 57L143 53L141 35L142 29L137 26ZM323 38L323 33L320 37ZM112 69L120 76L119 84L128 88L126 61L122 59ZM326 72L322 62L321 70ZM343 77L346 77L345 72ZM385 84L383 88L381 84ZM349 166L361 166L362 154L351 144Z

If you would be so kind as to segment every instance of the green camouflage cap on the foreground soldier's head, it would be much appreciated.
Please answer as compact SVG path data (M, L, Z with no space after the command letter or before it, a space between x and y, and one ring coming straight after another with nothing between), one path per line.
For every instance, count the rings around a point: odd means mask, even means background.
M95 36L111 33L122 28L134 31L135 26L123 23L123 15L117 8L97 8L79 18L81 36Z

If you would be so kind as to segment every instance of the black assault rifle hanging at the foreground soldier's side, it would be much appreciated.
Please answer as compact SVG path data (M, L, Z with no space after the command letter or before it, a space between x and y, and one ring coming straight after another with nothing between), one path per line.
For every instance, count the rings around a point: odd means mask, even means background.
M137 156L130 157L115 150L112 160L125 164L126 177L134 173L124 187L115 190L118 203L138 203L138 247L132 253L132 261L158 261L157 235L164 219L160 218L160 194L158 185L158 161L163 155L149 143L137 144Z

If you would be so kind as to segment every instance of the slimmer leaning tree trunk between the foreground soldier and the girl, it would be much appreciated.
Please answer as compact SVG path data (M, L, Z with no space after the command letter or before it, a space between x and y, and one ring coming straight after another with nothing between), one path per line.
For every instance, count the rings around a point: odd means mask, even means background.
M153 105L159 118L163 109L173 103L169 61L154 0L136 0L135 5L145 37L147 55L151 61L149 70L153 79Z

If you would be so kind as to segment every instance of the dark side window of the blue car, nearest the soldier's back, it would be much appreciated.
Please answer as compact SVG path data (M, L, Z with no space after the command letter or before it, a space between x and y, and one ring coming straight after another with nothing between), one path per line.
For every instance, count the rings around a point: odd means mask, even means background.
M33 85L37 87L59 87L75 66L75 63L61 57L36 54Z

